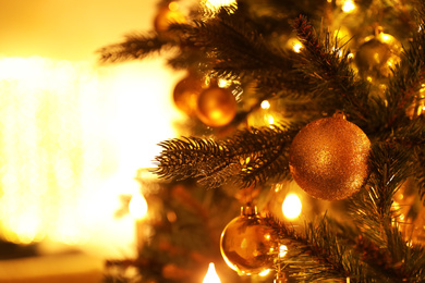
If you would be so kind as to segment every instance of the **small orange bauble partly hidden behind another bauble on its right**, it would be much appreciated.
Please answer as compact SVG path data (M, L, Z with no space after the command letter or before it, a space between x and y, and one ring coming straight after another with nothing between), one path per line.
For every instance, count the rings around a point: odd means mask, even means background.
M202 91L202 79L195 75L189 74L174 87L174 104L182 112L186 113L190 116L193 116L196 114L197 98Z

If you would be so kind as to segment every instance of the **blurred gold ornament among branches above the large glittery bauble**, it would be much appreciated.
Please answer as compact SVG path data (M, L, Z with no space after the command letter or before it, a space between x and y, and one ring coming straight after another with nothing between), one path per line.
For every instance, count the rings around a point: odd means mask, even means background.
M366 37L355 53L360 75L369 81L390 76L391 69L400 62L401 50L401 44L393 36L377 27L375 35Z

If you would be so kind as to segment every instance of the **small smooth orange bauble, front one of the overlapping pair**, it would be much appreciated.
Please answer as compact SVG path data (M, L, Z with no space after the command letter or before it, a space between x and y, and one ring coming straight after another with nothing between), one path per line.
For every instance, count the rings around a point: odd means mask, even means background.
M210 87L201 93L197 99L197 118L208 126L229 124L236 114L238 104L228 88Z

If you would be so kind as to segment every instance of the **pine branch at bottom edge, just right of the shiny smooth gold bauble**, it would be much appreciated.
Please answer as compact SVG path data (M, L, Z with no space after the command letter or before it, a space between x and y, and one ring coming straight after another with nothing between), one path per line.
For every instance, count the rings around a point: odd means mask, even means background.
M306 282L345 282L347 278L352 282L369 282L365 267L331 231L326 216L318 223L306 223L305 235L272 216L265 220L288 247L281 264L292 278Z

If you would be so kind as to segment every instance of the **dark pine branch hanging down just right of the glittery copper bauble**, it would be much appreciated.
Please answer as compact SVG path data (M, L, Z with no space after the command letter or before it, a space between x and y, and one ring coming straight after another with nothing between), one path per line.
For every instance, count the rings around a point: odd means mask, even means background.
M351 199L351 214L361 231L356 249L374 273L391 282L421 282L424 250L406 245L399 231L392 197L412 175L409 150L394 143L377 144L371 155L371 179L367 192ZM415 257L412 257L412 255ZM412 262L412 264L411 264Z

